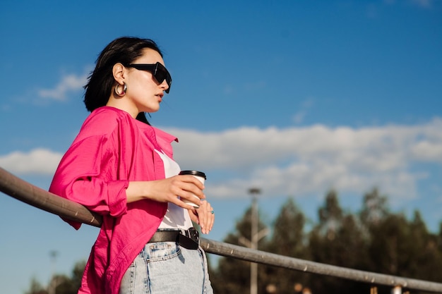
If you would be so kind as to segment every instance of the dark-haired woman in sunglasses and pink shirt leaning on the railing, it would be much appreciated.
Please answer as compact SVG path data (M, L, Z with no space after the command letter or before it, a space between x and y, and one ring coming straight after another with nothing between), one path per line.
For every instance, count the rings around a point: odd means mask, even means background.
M171 84L155 42L121 37L104 48L85 85L91 114L49 188L103 216L78 293L213 293L192 226L209 233L213 208L203 183L178 175L177 139L144 114L160 109Z

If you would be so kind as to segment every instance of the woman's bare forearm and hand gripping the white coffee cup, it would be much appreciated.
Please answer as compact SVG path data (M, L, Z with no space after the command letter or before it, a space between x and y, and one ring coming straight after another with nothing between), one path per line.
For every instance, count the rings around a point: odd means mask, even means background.
M203 183L197 178L191 175L182 175L163 180L129 182L126 197L128 203L150 199L157 202L171 202L185 209L193 209L190 204L186 204L182 200L189 200L201 206L204 202L201 199L205 200L203 189Z

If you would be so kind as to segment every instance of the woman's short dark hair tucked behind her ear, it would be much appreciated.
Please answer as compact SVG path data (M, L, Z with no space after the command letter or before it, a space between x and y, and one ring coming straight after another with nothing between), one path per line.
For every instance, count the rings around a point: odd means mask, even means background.
M95 69L88 77L85 88L85 106L88 111L94 111L104 106L109 100L112 86L115 83L112 68L116 63L130 64L143 55L143 49L150 48L162 53L157 44L151 39L138 37L120 37L114 39L101 51L95 62ZM143 114L145 119L145 116Z

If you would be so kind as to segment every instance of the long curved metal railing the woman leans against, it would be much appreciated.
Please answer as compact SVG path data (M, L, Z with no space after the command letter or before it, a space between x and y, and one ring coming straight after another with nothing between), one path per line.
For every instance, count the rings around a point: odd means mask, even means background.
M59 215L66 219L79 221L91 226L100 227L102 217L90 212L83 205L54 195L46 190L36 187L22 180L8 171L0 168L0 191L22 202L43 209L46 212ZM321 274L345 278L352 281L369 283L371 286L390 286L407 288L411 290L423 290L434 293L442 293L442 283L422 281L401 276L377 274L370 271L360 271L345 267L337 267L329 264L310 262L304 259L275 255L260 250L252 250L238 245L217 242L201 238L201 247L205 252L224 257L242 259L248 262L256 262L285 269L304 271L311 274Z

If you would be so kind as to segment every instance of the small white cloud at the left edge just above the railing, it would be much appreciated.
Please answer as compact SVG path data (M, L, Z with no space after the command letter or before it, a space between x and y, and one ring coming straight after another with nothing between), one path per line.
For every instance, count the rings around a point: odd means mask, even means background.
M48 149L34 149L28 153L16 151L0 156L0 166L18 175L52 175L62 156Z

